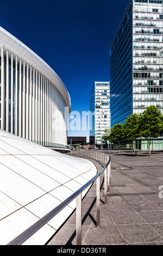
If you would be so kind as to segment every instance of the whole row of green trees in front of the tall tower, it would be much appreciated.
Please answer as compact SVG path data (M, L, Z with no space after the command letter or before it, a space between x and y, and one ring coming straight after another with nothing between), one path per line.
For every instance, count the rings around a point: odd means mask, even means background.
M120 140L123 138L132 139L135 141L135 154L136 154L136 139L145 137L149 139L149 156L151 156L151 139L158 138L160 133L163 133L163 115L161 111L155 106L149 106L147 109L137 115L131 114L124 124L115 124L112 127L110 135L105 131L103 139L105 141L118 141L120 153Z

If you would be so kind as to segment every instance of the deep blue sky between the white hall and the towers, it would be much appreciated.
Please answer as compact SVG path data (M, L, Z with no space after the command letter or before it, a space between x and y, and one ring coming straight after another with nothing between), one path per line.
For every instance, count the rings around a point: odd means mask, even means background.
M59 75L72 111L89 111L95 81L109 81L109 47L128 0L0 0L0 26ZM68 136L88 136L68 131Z

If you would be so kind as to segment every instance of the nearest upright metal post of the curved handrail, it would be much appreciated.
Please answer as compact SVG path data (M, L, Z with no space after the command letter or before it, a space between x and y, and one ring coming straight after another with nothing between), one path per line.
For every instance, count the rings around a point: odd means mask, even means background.
M76 244L82 245L82 193L79 194L76 202Z

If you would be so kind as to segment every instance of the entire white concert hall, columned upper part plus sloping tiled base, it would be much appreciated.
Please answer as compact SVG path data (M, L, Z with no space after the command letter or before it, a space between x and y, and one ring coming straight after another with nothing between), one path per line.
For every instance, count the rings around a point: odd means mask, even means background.
M67 145L71 99L59 76L2 27L0 48L0 245L8 245L92 179L97 168L50 149ZM74 209L76 200L23 245L45 245Z

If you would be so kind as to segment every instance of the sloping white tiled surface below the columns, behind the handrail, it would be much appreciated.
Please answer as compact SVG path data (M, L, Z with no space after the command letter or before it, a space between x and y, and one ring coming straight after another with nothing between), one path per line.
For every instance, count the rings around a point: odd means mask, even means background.
M0 245L34 224L96 175L95 165L0 130ZM84 196L84 194L82 195ZM76 200L24 245L44 245Z

